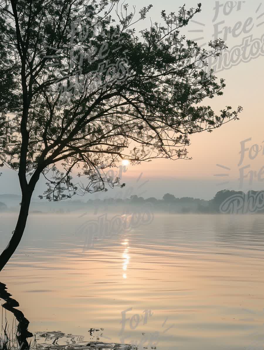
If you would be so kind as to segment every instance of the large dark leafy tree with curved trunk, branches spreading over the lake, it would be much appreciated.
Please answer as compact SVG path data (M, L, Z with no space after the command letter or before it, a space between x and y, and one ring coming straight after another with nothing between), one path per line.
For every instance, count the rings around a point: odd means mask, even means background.
M47 181L40 198L49 201L107 190L107 184L123 187L104 169L120 159L132 165L190 159L190 134L238 119L241 107L227 106L217 116L201 105L225 87L212 71L204 79L203 69L224 42L210 42L205 51L180 35L201 4L178 13L162 11L164 25L136 33L134 23L151 7L135 18L135 9L129 12L128 5L120 8L114 0L0 0L8 45L1 70L8 72L8 59L18 67L12 68L15 111L6 103L1 114L0 158L18 172L22 194L0 270L21 240L40 176ZM3 76L7 85L10 75ZM76 169L87 184L73 182Z

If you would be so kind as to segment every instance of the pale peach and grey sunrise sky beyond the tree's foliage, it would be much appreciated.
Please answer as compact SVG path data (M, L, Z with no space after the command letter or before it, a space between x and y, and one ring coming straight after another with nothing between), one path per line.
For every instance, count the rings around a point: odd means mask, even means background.
M151 2L127 0L126 3L130 6L134 4L138 12ZM137 29L149 27L150 18L152 22L160 22L163 9L176 12L184 1L163 0L152 4L153 8L147 18L139 22ZM197 1L185 1L185 5L186 8L196 7ZM232 56L227 65L222 65L221 71L216 73L217 77L226 80L223 96L208 99L204 104L210 105L218 114L227 105L233 110L242 106L243 112L239 115L240 120L230 121L212 133L192 135L188 147L188 156L192 157L190 161L156 159L129 166L122 179L127 188L133 188L133 194L144 191L142 196L145 198L162 198L164 193L169 192L176 197L210 199L225 188L244 191L264 188L264 3L255 0L202 1L202 12L196 14L193 20L195 22L191 21L182 31L187 38L197 39L199 45L205 44L204 48L207 48L206 43L216 37L224 38L227 33L224 39ZM20 194L17 173L8 169L1 169L1 172L0 194ZM140 189L138 186L141 186ZM41 181L35 189L35 197L45 188L45 182ZM107 196L112 196L112 192L109 191ZM93 197L87 194L84 200Z

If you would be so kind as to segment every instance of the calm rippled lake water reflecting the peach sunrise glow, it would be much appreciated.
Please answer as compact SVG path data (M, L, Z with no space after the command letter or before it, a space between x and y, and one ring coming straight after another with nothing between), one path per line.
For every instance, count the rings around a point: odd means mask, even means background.
M155 214L87 247L80 226L92 219L29 216L0 277L29 331L139 349L264 349L263 215ZM5 248L16 215L0 220Z

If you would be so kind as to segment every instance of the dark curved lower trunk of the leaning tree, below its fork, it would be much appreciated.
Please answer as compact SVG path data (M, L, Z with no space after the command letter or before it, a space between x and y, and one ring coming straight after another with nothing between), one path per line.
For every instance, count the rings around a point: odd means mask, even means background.
M23 232L26 227L28 209L31 201L32 191L27 191L27 193L22 194L21 207L19 211L18 221L16 223L15 231L6 249L0 255L0 271L4 268L8 260L14 254L19 242L22 238Z

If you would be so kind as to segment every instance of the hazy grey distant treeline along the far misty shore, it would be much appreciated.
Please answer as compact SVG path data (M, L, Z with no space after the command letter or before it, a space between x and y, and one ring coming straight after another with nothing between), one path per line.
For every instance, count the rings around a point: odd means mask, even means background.
M0 195L1 197L1 195ZM118 207L135 208L142 205L151 204L155 211L170 212L170 213L219 213L219 212L236 212L236 208L240 208L241 212L247 212L248 203L250 203L251 212L264 213L264 190L263 191L249 191L244 193L242 191L222 190L218 191L211 200L203 200L193 197L176 197L173 194L166 193L162 199L155 197L143 198L137 195L132 195L130 198L105 198L89 199L87 202L81 200L65 200L60 202L46 202L44 200L32 202L31 212L41 212L45 210L48 212L55 212L62 214L65 212L76 211L79 209L87 210L111 210ZM0 211L19 210L19 205L7 208L5 203L0 202ZM255 210L255 209L256 210ZM244 210L244 211L243 211ZM240 212L238 210L238 212Z

